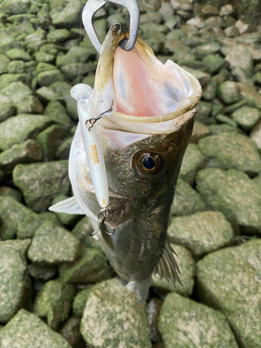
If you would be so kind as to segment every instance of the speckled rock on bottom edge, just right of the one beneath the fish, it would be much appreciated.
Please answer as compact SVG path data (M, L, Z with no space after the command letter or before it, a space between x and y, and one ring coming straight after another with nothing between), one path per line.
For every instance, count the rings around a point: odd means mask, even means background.
M158 322L166 348L237 348L224 315L179 294L166 296Z

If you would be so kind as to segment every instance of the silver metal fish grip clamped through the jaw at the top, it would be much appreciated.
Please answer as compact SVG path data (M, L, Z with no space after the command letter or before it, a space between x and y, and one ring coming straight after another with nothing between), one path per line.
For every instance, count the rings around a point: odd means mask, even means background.
M82 12L82 21L84 23L86 33L88 34L90 41L93 43L93 46L99 53L101 52L102 44L100 43L100 40L97 37L97 33L93 26L93 15L107 2L107 0L88 0ZM129 11L129 40L127 40L124 47L121 48L125 49L125 51L132 51L139 31L139 5L136 0L109 0L109 2L124 6Z

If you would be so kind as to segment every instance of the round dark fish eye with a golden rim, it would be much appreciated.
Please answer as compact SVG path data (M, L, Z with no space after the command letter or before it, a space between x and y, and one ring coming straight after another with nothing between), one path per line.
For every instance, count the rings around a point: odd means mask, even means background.
M161 157L151 152L138 153L134 156L134 164L142 174L155 174L161 169Z

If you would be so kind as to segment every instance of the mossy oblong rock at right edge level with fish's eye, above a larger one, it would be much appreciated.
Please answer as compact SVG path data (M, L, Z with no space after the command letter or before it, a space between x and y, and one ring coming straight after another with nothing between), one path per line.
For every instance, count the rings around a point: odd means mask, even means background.
M250 175L261 171L261 159L255 143L235 132L207 136L198 142L207 166L223 170L237 169Z

